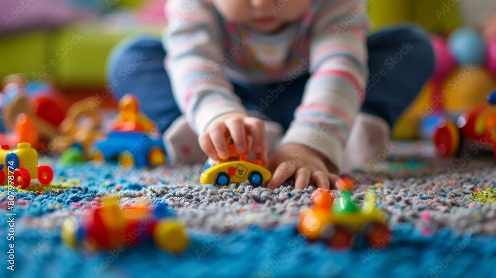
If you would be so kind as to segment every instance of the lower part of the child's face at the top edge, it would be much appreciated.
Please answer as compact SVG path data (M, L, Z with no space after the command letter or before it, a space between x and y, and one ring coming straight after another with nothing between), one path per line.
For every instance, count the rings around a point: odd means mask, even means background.
M301 18L312 0L212 0L226 19L272 33ZM279 5L278 5L279 2Z

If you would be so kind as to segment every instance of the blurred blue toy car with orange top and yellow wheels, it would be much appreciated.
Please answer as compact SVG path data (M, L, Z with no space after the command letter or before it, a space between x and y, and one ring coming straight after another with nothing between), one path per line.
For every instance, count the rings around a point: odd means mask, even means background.
M166 163L164 142L155 124L139 109L138 99L131 94L119 100L119 114L107 138L97 139L90 148L93 160L117 158L119 165L157 166Z

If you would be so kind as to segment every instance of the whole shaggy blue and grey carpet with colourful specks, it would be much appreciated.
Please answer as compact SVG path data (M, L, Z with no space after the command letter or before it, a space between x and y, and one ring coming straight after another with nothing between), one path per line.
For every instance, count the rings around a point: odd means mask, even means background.
M55 168L52 185L15 193L15 271L1 260L0 277L496 277L496 206L481 197L496 188L491 157L467 151L443 160L429 144L394 144L393 154L378 156L370 169L349 171L360 181L354 198L361 202L373 189L390 215L394 236L384 250L359 243L335 252L297 234L294 224L310 204L311 187L205 187L198 182L202 165L126 170L48 160ZM9 220L5 190L2 234ZM63 246L65 219L108 195L123 205L167 203L188 228L186 252L172 256L145 245L89 253ZM12 243L5 234L3 254Z

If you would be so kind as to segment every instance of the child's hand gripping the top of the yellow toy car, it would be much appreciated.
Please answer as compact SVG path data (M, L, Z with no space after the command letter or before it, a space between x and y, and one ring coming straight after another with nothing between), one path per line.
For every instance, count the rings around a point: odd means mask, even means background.
M229 151L226 135L228 133L233 138L238 153L244 153L247 150L245 135L251 135L253 137L251 150L263 163L267 163L268 147L265 141L265 124L262 120L248 117L243 113L224 114L213 120L205 133L198 138L203 152L215 160L227 159Z

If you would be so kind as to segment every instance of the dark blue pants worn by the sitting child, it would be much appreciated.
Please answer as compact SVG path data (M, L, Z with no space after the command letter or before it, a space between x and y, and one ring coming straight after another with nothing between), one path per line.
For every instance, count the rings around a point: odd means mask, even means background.
M362 112L383 118L392 126L417 96L434 70L434 53L426 33L404 26L372 34L367 39L369 80ZM166 53L162 43L151 37L126 39L111 52L107 63L108 84L118 84L114 95L137 95L143 112L151 120L172 123L181 115L174 101L164 69ZM285 85L281 95L263 111L266 117L286 129L300 104L309 75L287 82L252 85L235 83L234 91L248 110L261 107L269 91ZM163 132L169 124L159 125Z

